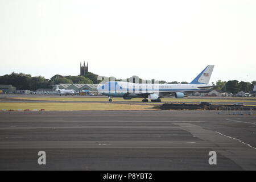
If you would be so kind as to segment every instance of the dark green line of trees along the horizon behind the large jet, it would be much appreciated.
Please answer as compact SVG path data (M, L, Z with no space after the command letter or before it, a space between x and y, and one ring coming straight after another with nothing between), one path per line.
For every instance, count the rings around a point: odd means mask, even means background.
M124 81L121 79L117 79L115 77L102 77L102 80L98 80L98 75L87 72L85 76L62 76L62 75L55 75L50 79L46 79L43 76L31 76L24 73L10 73L10 75L3 75L0 76L0 84L5 85L13 85L18 90L36 90L39 88L52 88L49 85L52 84L98 84L101 81ZM132 76L130 78L125 79L125 81L129 82L151 82L159 83L159 84L188 84L187 81L172 81L166 82L164 80L156 81L155 79L152 80L142 80L138 76ZM231 92L236 94L237 92L250 92L253 90L253 86L256 85L256 81L252 82L245 82L245 81L237 81L237 80L229 80L229 81L221 81L218 80L216 83L212 82L213 85L216 85L215 90L222 90L224 92Z

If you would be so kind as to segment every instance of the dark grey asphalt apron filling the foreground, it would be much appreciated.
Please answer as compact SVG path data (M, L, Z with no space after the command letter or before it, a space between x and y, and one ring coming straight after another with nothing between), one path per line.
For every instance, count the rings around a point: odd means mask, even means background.
M0 112L1 170L255 170L255 115ZM46 165L38 164L38 151ZM209 151L217 164L208 163Z

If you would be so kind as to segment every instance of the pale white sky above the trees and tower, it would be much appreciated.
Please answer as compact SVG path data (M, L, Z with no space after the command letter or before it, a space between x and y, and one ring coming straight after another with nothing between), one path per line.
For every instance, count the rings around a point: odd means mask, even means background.
M0 0L0 76L256 80L256 1Z

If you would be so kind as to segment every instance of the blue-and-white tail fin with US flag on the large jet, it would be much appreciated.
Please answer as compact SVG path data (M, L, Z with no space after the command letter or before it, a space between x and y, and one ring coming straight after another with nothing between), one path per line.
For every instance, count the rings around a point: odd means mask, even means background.
M208 84L214 65L208 65L190 84Z

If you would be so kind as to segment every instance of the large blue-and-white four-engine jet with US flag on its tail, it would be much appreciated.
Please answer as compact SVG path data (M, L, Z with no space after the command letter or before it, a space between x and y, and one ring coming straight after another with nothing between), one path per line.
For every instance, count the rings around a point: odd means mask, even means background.
M214 65L208 65L189 84L136 84L124 81L108 81L98 85L98 93L108 96L109 102L112 97L123 97L125 100L131 98L143 98L142 102L161 102L161 98L173 96L175 98L186 97L185 93L199 90L207 90L215 87L209 85Z

